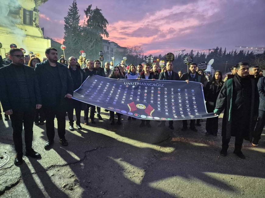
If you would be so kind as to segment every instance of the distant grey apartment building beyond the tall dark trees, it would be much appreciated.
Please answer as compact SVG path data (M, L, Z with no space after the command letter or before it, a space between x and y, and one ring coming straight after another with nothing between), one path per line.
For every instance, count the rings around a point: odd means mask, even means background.
M102 46L103 46L104 58L106 58L106 60L111 60L111 56L116 56L118 54L125 56L126 47L121 47L118 45L118 43L102 39Z

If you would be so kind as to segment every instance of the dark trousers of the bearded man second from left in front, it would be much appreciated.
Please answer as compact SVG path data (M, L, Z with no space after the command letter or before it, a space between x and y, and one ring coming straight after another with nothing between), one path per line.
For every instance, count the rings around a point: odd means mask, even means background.
M43 108L46 118L46 134L49 141L53 141L55 136L54 118L57 118L58 136L60 139L65 139L65 110Z

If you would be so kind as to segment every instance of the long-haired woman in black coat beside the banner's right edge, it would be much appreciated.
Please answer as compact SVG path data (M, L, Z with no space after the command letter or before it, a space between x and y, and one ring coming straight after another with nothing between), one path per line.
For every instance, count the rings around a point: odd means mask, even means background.
M214 78L210 80L205 89L204 89L204 97L206 100L206 108L207 112L214 112L214 108L216 105L217 97L221 91L221 88L224 85L223 77L221 71L214 72ZM218 131L218 117L207 118L206 120L206 135L214 135L217 136Z

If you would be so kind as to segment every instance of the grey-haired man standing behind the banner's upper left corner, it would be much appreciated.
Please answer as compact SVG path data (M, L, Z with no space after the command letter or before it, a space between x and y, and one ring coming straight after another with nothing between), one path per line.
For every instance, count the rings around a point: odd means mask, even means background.
M86 74L86 79L89 76L96 75L97 71L94 68L94 61L87 59L86 61L87 67L84 69L84 72ZM84 124L88 125L88 112L90 108L90 119L89 122L92 124L95 124L96 122L94 121L94 116L95 116L95 111L96 107L92 104L85 104L85 110L84 110Z

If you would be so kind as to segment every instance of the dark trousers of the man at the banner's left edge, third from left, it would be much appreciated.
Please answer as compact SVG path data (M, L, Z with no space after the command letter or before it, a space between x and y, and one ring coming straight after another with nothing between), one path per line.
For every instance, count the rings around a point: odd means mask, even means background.
M70 125L74 124L74 119L73 119L74 109L76 112L76 124L80 125L81 108L82 108L82 103L80 101L69 99L67 115L68 115Z

